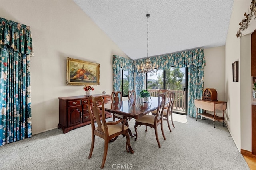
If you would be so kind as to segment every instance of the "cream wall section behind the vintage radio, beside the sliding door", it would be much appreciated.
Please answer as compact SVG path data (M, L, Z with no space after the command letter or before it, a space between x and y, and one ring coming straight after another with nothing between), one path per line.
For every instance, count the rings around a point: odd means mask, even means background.
M225 101L225 46L204 49L204 56L204 89L215 89L218 101ZM222 111L216 113L222 117Z

